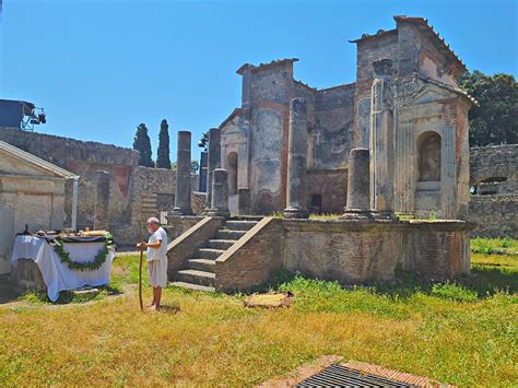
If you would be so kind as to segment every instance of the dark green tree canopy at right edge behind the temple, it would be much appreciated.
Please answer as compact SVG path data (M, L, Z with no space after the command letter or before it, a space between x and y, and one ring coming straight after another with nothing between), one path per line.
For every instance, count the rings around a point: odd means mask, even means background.
M518 143L518 85L511 74L466 73L460 87L479 105L469 111L470 145Z

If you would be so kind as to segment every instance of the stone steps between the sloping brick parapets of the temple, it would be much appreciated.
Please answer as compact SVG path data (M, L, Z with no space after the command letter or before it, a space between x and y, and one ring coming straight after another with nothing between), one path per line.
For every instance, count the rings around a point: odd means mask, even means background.
M174 286L214 291L215 260L229 249L249 230L259 223L260 219L229 219L215 236L205 240L201 248L190 257L184 269L176 272Z

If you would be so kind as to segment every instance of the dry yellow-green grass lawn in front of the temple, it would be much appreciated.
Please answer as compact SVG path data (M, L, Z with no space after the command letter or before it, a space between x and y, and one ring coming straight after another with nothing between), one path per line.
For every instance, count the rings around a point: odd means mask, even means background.
M0 305L0 385L252 386L338 354L461 386L516 386L518 256L473 254L472 273L352 290L282 273L271 286L295 294L289 309L168 287L164 313L141 314L138 259L117 258L121 296Z

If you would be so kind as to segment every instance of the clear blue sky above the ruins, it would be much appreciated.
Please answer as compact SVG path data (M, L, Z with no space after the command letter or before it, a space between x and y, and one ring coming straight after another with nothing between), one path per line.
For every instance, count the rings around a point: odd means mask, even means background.
M0 0L0 98L47 110L37 131L131 146L160 121L196 141L240 104L245 62L296 57L316 87L355 79L363 33L428 19L470 70L517 74L517 1Z

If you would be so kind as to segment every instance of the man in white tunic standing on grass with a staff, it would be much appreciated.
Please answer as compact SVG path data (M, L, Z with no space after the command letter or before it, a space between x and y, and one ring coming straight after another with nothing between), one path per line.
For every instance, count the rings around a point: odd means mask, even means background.
M158 309L162 289L167 284L167 233L155 217L149 219L146 226L151 234L150 239L148 243L138 244L137 248L148 248L148 275L153 287L151 309Z

